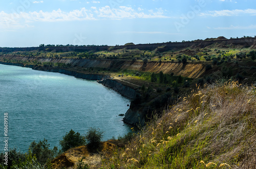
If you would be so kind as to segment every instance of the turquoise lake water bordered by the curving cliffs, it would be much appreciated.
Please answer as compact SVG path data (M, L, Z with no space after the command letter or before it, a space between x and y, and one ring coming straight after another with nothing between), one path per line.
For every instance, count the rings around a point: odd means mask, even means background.
M104 131L103 140L130 132L118 114L130 100L96 81L31 68L0 64L0 152L4 150L4 113L8 146L27 152L32 141L48 139L51 148L73 129Z

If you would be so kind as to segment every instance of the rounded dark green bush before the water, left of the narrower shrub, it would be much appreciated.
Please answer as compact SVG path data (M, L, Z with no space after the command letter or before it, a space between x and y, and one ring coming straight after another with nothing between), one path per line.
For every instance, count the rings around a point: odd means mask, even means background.
M63 136L63 140L59 141L62 152L69 150L70 148L82 146L86 143L86 139L80 135L80 133L75 133L72 129L70 132Z

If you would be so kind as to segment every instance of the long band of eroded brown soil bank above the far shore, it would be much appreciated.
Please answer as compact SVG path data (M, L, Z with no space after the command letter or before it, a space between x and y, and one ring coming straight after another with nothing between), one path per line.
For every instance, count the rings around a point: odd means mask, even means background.
M155 62L150 61L148 63L143 63L142 61L131 61L131 60L92 60L92 59L67 59L67 58L42 58L42 57L21 57L21 56L0 56L0 60L15 60L16 65L23 65L20 63L28 63L28 62L52 62L54 63L65 63L69 64L70 68L72 67L80 67L80 68L111 68L117 70L137 70L137 71L147 71L159 73L162 71L164 74L174 73L175 76L182 76L187 78L200 78L205 73L205 64L203 62L200 63L171 63L171 62ZM14 64L14 63L13 63ZM26 66L26 65L25 65Z

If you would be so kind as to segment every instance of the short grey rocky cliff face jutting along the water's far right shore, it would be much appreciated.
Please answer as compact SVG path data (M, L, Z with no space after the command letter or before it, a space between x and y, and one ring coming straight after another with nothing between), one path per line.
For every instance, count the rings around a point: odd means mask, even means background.
M121 82L118 82L117 80L104 79L102 81L102 84L106 87L109 87L109 88L117 91L118 93L125 96L126 98L134 99L135 96L136 96L136 90L135 89L133 89L129 86L126 86L126 85L122 84Z

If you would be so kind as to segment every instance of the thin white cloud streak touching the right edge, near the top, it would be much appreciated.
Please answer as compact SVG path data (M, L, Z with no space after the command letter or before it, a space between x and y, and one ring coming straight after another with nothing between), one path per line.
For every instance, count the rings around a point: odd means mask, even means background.
M243 14L256 15L256 9L208 11L206 13L200 13L200 16L239 16Z

